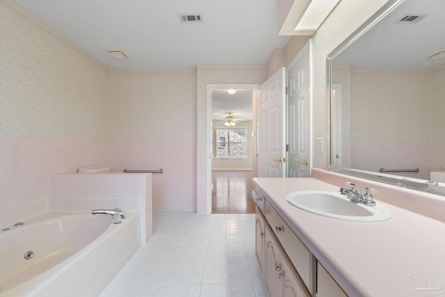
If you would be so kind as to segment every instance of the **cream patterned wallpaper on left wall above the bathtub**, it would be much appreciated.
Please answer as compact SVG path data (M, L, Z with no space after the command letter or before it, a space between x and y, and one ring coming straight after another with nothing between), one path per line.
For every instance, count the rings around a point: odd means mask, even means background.
M0 1L0 137L108 139L106 68Z

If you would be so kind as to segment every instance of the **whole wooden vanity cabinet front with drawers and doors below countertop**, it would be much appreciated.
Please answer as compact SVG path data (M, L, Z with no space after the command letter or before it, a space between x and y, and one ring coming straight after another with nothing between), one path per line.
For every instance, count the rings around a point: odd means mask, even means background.
M252 198L261 202L255 209L255 248L268 296L348 297L268 198L258 190L252 191Z

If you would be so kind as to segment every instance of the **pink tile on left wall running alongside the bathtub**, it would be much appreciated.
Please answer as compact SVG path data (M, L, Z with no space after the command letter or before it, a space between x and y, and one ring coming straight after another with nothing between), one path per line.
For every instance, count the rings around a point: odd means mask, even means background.
M109 163L109 144L0 138L0 211L49 198L49 175Z

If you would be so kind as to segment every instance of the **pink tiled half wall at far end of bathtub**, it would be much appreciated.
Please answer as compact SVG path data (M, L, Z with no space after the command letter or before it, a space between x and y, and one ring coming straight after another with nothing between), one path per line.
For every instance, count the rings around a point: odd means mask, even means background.
M140 214L140 243L152 236L151 173L60 173L51 175L49 211L120 207Z

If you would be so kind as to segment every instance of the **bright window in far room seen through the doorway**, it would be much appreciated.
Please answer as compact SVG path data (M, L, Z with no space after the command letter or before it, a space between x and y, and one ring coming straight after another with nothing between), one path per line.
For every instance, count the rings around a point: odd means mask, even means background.
M247 129L215 129L217 158L247 158Z

